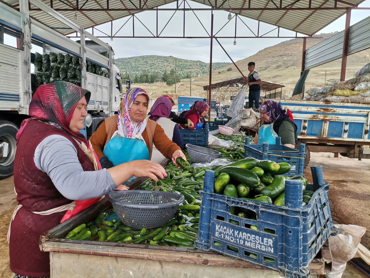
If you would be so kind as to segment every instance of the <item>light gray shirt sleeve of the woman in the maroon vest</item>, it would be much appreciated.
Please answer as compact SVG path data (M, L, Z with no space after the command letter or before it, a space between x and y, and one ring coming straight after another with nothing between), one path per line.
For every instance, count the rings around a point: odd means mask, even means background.
M84 171L76 148L61 135L50 135L42 140L36 147L33 161L70 200L97 198L117 188L107 169Z

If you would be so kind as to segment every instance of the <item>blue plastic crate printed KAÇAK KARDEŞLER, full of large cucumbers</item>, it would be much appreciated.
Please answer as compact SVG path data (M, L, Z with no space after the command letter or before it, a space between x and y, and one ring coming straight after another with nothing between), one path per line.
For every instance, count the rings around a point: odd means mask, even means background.
M311 171L314 183L308 184L306 190L315 193L304 206L301 181L287 180L286 205L276 206L213 193L215 172L206 171L195 247L276 270L287 278L308 278L310 262L333 229L327 196L329 183L324 182L321 166L311 167ZM255 212L257 220L232 215L232 206ZM231 224L231 219L239 225ZM251 229L251 225L257 226L257 230ZM232 251L233 248L238 251Z

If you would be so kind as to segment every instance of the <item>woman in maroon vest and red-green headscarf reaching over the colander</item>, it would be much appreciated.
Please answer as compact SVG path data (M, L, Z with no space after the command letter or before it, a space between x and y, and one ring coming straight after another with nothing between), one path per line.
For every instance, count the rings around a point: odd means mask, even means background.
M17 278L50 276L49 254L40 251L40 235L77 208L73 200L127 190L121 184L132 175L155 181L166 175L162 166L148 160L94 171L94 159L83 150L87 141L79 132L89 99L88 90L72 83L41 85L30 103L32 118L24 120L17 133L14 185L19 205L8 232L10 269Z

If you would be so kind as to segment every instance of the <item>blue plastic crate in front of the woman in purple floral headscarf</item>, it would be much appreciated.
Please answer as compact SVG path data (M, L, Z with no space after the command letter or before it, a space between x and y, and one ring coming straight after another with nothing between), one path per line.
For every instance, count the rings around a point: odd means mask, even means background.
M251 145L249 138L245 139L244 157L252 157L259 160L271 160L276 163L287 162L292 166L287 176L303 176L305 169L305 144L299 145L299 150L281 145L281 138L276 137L276 145L262 144Z

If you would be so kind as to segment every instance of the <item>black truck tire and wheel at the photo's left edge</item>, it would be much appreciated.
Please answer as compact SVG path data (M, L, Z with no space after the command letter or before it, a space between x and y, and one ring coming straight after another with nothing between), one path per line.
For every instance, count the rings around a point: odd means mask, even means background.
M16 155L18 127L9 121L0 120L0 143L9 144L9 152L6 157L0 157L0 179L9 178L13 175L14 157Z

